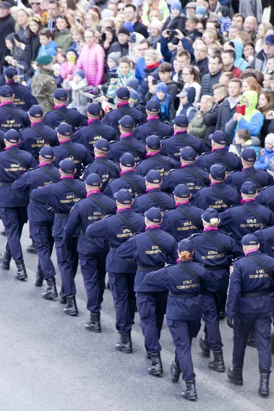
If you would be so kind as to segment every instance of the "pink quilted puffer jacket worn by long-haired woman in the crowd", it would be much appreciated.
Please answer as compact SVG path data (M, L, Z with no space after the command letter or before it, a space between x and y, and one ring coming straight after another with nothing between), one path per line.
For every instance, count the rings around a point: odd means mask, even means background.
M76 69L84 70L88 86L99 86L99 84L102 84L105 69L105 52L103 47L97 43L94 43L92 46L84 46L77 60Z

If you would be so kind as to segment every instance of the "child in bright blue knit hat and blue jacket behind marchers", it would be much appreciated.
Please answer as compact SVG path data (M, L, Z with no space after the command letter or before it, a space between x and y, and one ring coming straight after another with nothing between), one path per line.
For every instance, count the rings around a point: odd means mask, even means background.
M159 119L160 121L165 121L166 123L172 123L175 119L175 108L173 105L173 99L167 91L167 86L164 83L158 83L155 88L155 94L153 95L153 100L158 101L160 106Z

